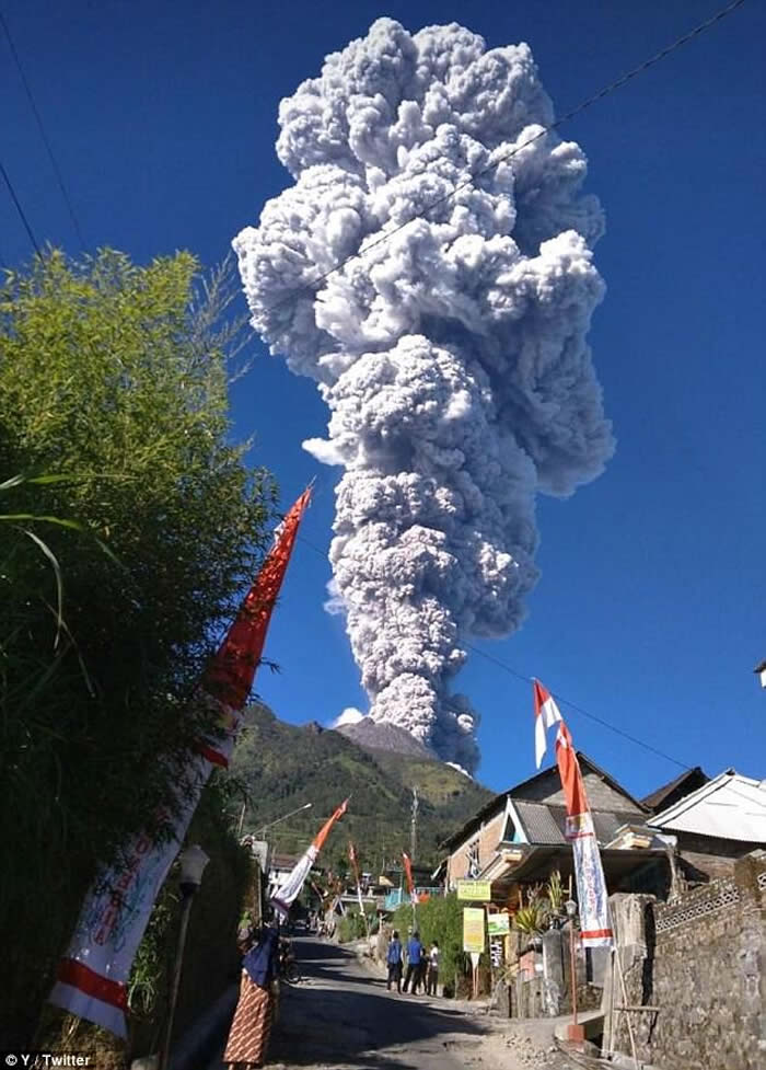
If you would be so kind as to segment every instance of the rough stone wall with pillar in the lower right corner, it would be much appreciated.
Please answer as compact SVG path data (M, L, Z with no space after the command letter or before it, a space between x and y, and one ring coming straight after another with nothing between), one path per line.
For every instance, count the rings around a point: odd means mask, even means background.
M605 1050L662 1070L766 1066L766 852L668 902L612 896L626 992L604 991ZM658 1008L618 1011L619 1005ZM610 1008L615 1010L610 1015Z

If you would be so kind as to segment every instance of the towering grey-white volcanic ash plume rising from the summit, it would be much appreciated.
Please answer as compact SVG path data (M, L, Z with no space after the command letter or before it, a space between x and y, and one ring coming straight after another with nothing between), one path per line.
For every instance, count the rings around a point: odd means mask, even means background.
M580 148L532 141L553 119L526 45L382 19L282 101L295 183L234 241L253 324L330 409L304 446L345 470L330 608L370 715L467 770L464 642L522 620L535 494L613 450L585 344L602 212Z

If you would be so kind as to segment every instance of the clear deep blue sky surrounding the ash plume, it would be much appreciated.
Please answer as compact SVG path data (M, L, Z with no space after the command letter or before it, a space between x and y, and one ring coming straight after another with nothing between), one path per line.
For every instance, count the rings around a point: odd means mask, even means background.
M720 0L719 0L720 3ZM137 261L186 248L212 264L290 179L274 141L280 99L380 15L410 31L463 22L489 46L526 41L559 114L701 22L716 0L316 5L223 0L8 0L25 67L85 244ZM469 18L465 11L469 11ZM606 473L542 498L542 578L523 629L472 645L657 750L712 774L766 776L762 43L748 0L712 31L561 131L590 161L607 233L608 290L591 343L614 422ZM78 242L0 35L0 159L39 242ZM0 187L0 255L30 255ZM313 475L314 506L259 690L287 721L362 705L343 623L323 610L337 469L301 441L326 413L309 380L257 354L233 394L237 436L283 501ZM479 779L534 771L531 687L477 654L459 678L483 715ZM577 746L637 794L681 771L561 704Z

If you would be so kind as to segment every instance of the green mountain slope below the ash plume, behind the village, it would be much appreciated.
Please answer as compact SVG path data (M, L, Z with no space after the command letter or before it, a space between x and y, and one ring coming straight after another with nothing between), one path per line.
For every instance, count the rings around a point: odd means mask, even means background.
M413 786L418 790L416 863L436 864L438 844L488 798L491 792L443 762L421 755L370 750L339 732L279 721L268 707L252 706L234 751L232 775L247 789L244 831L263 826L305 803L311 809L269 829L275 851L300 853L322 822L348 795L348 814L324 851L335 868L347 865L348 840L362 868L401 861L409 850Z

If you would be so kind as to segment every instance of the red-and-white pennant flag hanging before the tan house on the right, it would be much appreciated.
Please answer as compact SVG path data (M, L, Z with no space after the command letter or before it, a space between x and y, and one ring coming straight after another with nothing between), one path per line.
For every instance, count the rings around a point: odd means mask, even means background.
M580 939L589 947L608 947L614 942L614 933L610 923L604 868L580 762L564 721L559 724L556 736L556 762L567 803L566 836L572 841L574 856Z

